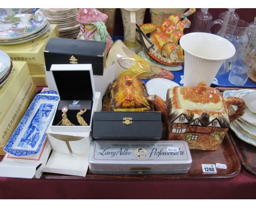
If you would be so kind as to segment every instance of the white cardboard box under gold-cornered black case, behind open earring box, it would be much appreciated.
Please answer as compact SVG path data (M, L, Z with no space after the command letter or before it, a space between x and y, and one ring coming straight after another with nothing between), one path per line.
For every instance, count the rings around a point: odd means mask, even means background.
M102 96L106 94L109 84L114 81L115 69L116 69L116 64L110 66L107 69L104 69L102 76L101 75L93 76L95 91L100 91ZM54 81L52 72L45 70L45 74L46 74L49 90L57 91L56 83Z

